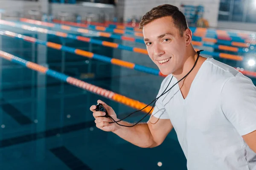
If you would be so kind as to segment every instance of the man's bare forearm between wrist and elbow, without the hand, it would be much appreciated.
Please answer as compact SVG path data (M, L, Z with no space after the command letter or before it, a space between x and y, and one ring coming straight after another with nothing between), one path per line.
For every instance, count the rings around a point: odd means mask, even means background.
M121 121L120 125L128 125L131 126L133 124ZM125 139L126 141L137 145L139 147L154 147L156 143L154 142L153 136L148 128L146 123L140 123L135 125L134 127L124 127L118 126L118 129L113 131L116 135Z

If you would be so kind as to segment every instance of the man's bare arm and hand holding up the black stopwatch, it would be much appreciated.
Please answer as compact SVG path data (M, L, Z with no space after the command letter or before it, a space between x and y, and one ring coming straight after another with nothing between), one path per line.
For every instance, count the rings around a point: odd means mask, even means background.
M101 103L106 108L108 114L114 120L119 120L116 118L116 113L110 106L101 100L98 100L98 103ZM160 145L173 128L170 119L158 119L154 116L151 116L147 123L140 123L133 127L120 126L130 126L133 124L125 121L118 122L120 125L117 125L116 123L109 123L113 122L113 120L111 118L102 117L105 113L101 111L94 111L95 108L96 106L93 105L90 110L93 111L96 127L104 131L113 132L122 139L125 139L139 147L156 147Z

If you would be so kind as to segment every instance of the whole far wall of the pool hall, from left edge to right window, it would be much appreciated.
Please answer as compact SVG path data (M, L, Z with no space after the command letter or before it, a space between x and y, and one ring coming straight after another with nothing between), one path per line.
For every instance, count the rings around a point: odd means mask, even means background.
M81 15L86 19L87 13L96 14L95 19L97 20L99 14L104 12L107 15L107 19L113 18L114 15L119 19L130 19L137 17L140 19L147 11L154 6L161 4L170 3L180 8L180 4L186 5L203 5L205 7L204 17L209 21L211 27L217 27L218 25L218 7L219 0L118 0L115 7L104 6L97 8L93 6L82 6L73 4L51 4L50 9L48 8L48 0L39 0L38 2L22 1L22 0L0 0L1 7L6 9L7 16L17 17L19 14L24 14L21 17L29 17L28 10L34 9L38 11L48 12L52 11L52 14L58 16L58 12L66 11L70 13L70 20L73 19L76 14Z

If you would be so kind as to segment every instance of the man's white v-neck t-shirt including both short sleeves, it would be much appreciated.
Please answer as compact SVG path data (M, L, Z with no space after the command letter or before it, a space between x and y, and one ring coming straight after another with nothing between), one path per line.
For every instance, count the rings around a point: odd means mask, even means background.
M171 78L163 80L157 97ZM176 82L173 77L167 90ZM256 130L256 87L235 68L208 58L187 97L177 84L152 114L171 120L188 170L256 170L256 153L241 137Z

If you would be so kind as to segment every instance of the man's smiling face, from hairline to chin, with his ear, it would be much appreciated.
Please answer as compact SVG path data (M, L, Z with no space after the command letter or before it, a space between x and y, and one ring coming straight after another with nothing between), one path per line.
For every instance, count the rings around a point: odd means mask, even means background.
M180 35L172 17L162 17L143 28L148 55L164 75L177 74L183 69L189 37Z

